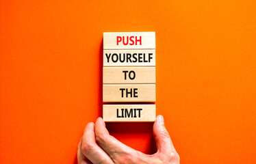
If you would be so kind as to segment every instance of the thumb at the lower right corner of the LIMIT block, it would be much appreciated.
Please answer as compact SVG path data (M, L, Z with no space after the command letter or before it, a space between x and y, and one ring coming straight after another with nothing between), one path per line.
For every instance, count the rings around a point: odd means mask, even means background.
M157 150L169 154L173 146L170 135L164 126L164 117L162 115L158 115L153 124L153 136L155 137Z

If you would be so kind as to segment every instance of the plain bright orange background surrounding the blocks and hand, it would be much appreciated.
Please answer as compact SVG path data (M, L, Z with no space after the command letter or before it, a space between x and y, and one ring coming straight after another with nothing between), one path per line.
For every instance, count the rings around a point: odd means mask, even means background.
M156 31L157 114L181 163L256 163L256 1L1 1L0 163L76 163L102 115L102 38ZM151 123L107 124L155 152Z

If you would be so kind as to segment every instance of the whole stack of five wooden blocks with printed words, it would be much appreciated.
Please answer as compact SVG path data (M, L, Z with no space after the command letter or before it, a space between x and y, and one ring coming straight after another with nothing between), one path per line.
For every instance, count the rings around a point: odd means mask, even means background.
M103 33L103 120L155 121L155 32Z

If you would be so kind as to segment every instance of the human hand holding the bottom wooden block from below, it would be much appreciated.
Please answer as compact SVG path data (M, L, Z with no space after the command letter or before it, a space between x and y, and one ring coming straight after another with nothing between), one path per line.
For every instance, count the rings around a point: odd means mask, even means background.
M112 137L105 127L105 122L98 118L95 124L90 122L84 129L77 149L77 161L79 164L179 163L179 154L166 131L162 115L158 115L153 124L153 136L157 152L152 155L144 154Z

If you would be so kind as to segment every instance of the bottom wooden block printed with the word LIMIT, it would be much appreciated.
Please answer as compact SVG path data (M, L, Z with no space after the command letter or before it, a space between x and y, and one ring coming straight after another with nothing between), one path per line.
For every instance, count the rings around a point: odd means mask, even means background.
M155 105L103 105L105 122L154 122Z

